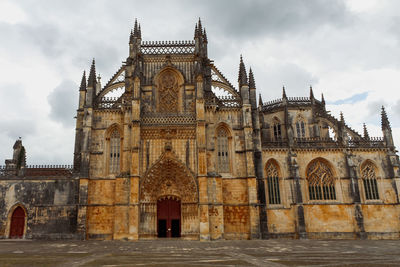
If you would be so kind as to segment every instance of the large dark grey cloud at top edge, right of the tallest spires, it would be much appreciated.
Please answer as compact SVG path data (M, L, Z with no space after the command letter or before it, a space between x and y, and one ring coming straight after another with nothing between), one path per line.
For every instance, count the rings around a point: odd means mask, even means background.
M341 0L209 0L199 8L211 21L209 25L235 37L304 34L323 25L340 27L351 22Z

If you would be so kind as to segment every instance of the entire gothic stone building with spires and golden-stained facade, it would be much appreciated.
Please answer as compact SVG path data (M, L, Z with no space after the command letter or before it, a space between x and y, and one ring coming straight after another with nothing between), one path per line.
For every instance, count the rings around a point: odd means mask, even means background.
M312 88L257 103L242 59L236 89L208 58L200 21L173 42L135 23L126 61L104 86L93 61L79 93L73 169L27 167L22 144L2 169L1 237L399 238L385 111L372 138Z

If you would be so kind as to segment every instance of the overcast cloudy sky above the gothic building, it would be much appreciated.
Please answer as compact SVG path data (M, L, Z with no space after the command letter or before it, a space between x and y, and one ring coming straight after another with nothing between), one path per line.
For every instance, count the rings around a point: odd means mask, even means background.
M83 70L103 84L143 40L190 40L201 17L209 56L237 84L239 55L264 101L324 93L334 116L381 136L387 109L400 146L400 1L0 0L0 164L21 136L28 164L71 164Z

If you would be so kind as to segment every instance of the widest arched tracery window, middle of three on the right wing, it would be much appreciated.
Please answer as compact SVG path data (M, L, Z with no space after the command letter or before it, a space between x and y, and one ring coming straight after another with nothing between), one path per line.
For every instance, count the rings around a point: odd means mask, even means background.
M333 174L324 161L312 161L307 167L306 175L310 200L336 199Z

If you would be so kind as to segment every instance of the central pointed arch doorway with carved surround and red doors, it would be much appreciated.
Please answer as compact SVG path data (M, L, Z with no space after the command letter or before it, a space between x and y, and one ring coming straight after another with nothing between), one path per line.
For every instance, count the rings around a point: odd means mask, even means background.
M166 151L140 184L139 237L196 240L199 228L196 181L186 165Z

